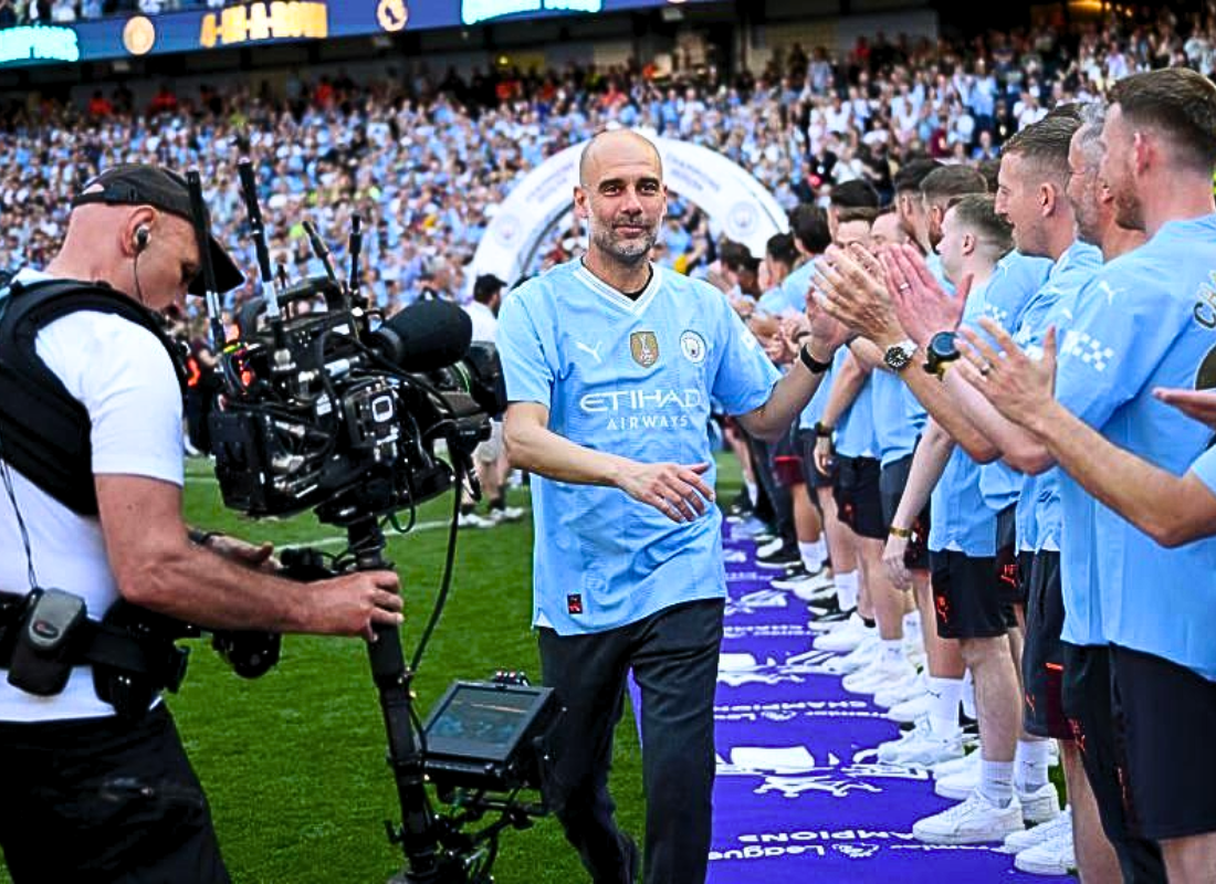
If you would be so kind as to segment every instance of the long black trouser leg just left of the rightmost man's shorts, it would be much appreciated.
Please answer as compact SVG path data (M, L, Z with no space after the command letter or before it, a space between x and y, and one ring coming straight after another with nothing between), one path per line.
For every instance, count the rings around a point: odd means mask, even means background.
M1102 829L1115 849L1124 880L1137 884L1139 882L1165 884L1161 849L1156 841L1139 834L1132 809L1124 801L1126 771L1121 754L1116 751L1114 716L1110 708L1110 649L1079 647L1069 642L1060 642L1060 646L1064 652L1060 702L1064 715L1073 727L1073 738L1081 753L1086 779L1090 781L1090 788L1093 789L1093 796L1098 803ZM1159 708L1155 704L1153 706L1153 709ZM1173 751L1171 749L1171 753ZM1200 755L1210 751L1210 745L1204 747ZM1183 756L1171 754L1169 758L1177 761ZM1182 765L1187 771L1189 760Z

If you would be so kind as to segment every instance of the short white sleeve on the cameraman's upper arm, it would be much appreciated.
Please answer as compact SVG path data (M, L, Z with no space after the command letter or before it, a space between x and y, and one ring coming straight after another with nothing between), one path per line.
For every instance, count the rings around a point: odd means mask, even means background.
M40 331L35 348L89 412L95 475L185 484L181 388L151 332L119 316L80 311Z

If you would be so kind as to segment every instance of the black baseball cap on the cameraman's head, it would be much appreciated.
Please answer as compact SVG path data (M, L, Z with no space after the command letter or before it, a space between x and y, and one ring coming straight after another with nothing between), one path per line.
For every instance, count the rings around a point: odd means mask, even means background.
M72 208L88 205L89 203L105 203L106 205L151 205L154 209L168 212L190 224L193 216L190 212L190 188L186 179L169 169L143 163L128 163L112 165L101 174L90 179L84 190L72 201ZM210 233L210 213L203 207L207 219L208 238L212 243L212 266L215 269L215 288L219 292L227 292L244 282L244 274L236 266L236 261L220 244L219 240ZM190 283L191 294L207 294L207 285L203 275L198 274Z

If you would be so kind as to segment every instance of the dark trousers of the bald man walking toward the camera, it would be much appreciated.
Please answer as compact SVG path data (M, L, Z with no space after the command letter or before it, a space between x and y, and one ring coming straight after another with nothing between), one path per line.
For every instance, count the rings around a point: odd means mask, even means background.
M545 685L564 713L553 733L545 798L595 884L632 884L635 848L608 794L613 730L630 669L642 692L647 884L702 884L714 788L714 688L722 602L662 610L581 636L540 630Z

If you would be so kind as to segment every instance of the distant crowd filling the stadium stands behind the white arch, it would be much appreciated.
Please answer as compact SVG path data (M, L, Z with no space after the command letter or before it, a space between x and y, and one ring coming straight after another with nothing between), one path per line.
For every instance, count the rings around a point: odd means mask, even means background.
M340 257L350 214L359 212L375 231L368 285L382 306L394 311L429 292L467 300L473 281L465 268L512 182L608 125L720 151L787 209L827 204L833 186L857 179L890 199L894 175L911 156L993 159L1010 135L1059 101L1100 96L1120 75L1161 64L1210 72L1214 58L1211 10L1178 22L1153 9L1143 18L993 33L967 44L878 35L839 58L795 44L759 77L710 71L658 81L629 66L501 68L463 78L420 67L404 80L365 84L343 73L298 73L282 96L244 86L178 95L163 85L146 107L119 84L80 106L6 108L0 150L13 162L0 175L0 268L45 260L71 195L120 162L198 167L225 242L252 258L235 175L236 159L247 154L263 182L275 260L289 276L319 270L300 225L305 214ZM659 261L704 276L719 258L716 235L694 205L676 198ZM579 241L573 223L561 229L531 270L568 259ZM254 292L250 282L231 299Z

